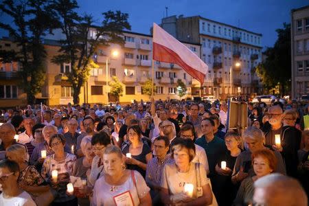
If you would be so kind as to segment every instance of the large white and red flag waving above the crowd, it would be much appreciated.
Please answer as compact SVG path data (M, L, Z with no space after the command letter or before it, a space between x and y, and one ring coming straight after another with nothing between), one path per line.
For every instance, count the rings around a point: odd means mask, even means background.
M188 47L153 23L153 60L174 63L203 85L208 66Z

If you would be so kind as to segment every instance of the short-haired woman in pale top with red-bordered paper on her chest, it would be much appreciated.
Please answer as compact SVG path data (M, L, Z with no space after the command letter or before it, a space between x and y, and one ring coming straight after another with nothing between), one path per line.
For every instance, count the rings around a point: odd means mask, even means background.
M95 183L91 205L151 205L149 187L134 170L126 170L122 152L117 146L104 150L105 174ZM138 185L138 186L137 186Z

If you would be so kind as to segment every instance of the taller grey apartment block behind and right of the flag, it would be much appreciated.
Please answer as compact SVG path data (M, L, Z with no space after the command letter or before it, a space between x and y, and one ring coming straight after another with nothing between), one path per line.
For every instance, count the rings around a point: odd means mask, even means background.
M168 16L161 27L179 41L201 44L201 59L209 71L205 83L192 80L192 94L225 99L229 95L261 93L262 85L252 68L262 62L262 34L201 16Z

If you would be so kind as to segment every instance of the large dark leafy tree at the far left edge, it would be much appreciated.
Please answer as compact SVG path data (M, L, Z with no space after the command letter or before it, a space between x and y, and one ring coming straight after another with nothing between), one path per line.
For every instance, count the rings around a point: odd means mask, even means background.
M13 25L0 23L0 27L17 45L16 50L1 50L0 58L3 62L20 62L19 86L27 93L27 103L34 104L35 95L45 83L46 52L42 39L47 33L52 34L57 21L47 0L5 0L0 10L13 19Z

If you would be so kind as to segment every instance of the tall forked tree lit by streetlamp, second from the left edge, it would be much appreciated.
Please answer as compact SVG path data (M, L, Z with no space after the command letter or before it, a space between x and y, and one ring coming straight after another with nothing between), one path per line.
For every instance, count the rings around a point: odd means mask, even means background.
M128 14L120 11L104 12L102 25L94 27L92 16L88 14L80 16L76 12L78 8L76 0L55 0L53 8L60 19L60 29L65 34L65 39L60 41L61 54L54 56L53 62L71 64L71 72L67 73L67 76L73 87L73 102L78 104L80 89L89 78L93 54L98 45L124 44L122 30L130 30ZM93 29L95 34L89 38Z

